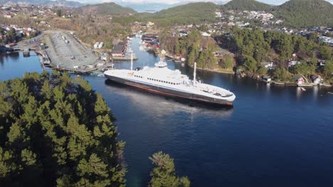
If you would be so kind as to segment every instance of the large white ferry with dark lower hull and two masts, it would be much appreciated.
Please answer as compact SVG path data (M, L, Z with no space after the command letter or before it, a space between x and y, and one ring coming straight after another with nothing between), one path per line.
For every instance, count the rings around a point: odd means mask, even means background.
M104 72L105 77L144 91L196 102L232 106L236 98L231 91L196 81L196 63L193 80L178 69L169 69L163 60L155 63L155 67L132 70L132 66L131 63L131 69L109 69Z

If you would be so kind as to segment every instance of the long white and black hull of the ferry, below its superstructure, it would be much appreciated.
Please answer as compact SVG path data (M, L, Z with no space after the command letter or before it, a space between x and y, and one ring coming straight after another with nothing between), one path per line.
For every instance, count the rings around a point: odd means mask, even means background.
M154 68L154 71L159 71L159 68ZM164 69L162 69L162 71L164 71ZM173 72L169 69L168 71ZM157 79L149 79L149 75L144 76L145 74L142 74L141 72L144 71L112 69L105 72L105 77L119 84L132 86L154 94L184 98L191 101L231 106L236 98L236 96L230 91L226 91L225 89L216 86L201 83L196 83L194 85L191 84L191 82L190 84L177 84L172 83L171 81L158 81ZM191 80L187 81L189 83ZM212 90L218 90L219 94L216 92L210 93Z

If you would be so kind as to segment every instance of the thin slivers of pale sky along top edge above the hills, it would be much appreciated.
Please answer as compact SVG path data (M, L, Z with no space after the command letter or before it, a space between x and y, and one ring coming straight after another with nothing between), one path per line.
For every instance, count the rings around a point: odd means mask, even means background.
M95 3L102 3L102 2L131 2L131 3L139 3L139 2L149 2L149 3L157 3L158 1L156 0L71 0L71 1L78 1L80 3L84 4L95 4ZM199 0L186 0L186 1L199 1ZM203 1L209 1L209 0L203 0ZM213 1L231 1L231 0L213 0ZM283 4L287 0L257 0L260 2L263 2L265 4ZM326 0L329 1L331 4L333 4L333 0ZM163 3L165 4L177 4L180 3L181 0L164 0Z

